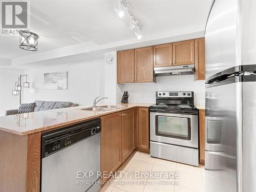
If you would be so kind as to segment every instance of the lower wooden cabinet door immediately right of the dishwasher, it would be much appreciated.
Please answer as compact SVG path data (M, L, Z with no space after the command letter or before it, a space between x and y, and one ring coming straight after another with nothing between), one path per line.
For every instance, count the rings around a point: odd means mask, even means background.
M115 172L122 164L122 113L113 113L101 117L100 142L101 173ZM102 178L106 181L108 178Z

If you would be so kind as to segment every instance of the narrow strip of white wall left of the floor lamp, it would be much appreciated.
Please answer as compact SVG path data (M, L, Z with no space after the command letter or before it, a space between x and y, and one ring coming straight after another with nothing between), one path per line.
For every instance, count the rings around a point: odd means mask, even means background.
M20 74L24 74L24 70L0 69L0 116L19 106L19 96L13 96L12 90Z

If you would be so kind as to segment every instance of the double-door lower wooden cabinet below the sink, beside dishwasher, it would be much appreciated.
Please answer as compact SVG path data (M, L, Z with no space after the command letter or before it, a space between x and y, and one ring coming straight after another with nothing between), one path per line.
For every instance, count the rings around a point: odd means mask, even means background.
M114 173L135 150L136 108L101 117L100 170ZM104 177L101 181L108 180Z

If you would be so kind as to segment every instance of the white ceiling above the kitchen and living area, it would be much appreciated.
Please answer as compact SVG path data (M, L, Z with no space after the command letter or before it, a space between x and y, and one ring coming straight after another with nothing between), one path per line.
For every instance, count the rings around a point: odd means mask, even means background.
M194 28L203 31L212 0L126 0L143 29L143 37ZM0 36L0 58L18 58L81 43L104 45L136 39L130 18L119 18L118 0L30 1L30 31L38 51L18 48L18 36ZM142 37L142 39L143 39ZM136 39L137 40L137 39Z

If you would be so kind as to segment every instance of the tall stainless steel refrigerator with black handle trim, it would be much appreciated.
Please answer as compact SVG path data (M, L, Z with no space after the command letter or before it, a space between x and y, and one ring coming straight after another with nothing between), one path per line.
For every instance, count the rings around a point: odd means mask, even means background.
M213 2L205 58L205 191L256 191L256 0Z

